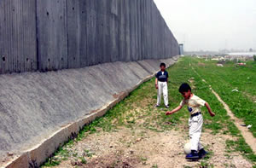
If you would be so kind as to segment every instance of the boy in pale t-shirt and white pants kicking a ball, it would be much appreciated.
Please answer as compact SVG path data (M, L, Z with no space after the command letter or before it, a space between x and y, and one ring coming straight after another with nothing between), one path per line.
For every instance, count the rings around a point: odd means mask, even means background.
M186 159L201 159L207 154L200 142L201 129L203 125L201 107L206 106L212 117L215 116L215 113L212 113L212 109L206 101L202 100L198 96L195 96L191 92L189 84L182 84L179 88L179 92L184 97L183 101L181 101L180 105L171 112L166 112L166 115L176 113L184 105L188 105L188 110L190 113L189 136L191 143L191 154L187 154Z

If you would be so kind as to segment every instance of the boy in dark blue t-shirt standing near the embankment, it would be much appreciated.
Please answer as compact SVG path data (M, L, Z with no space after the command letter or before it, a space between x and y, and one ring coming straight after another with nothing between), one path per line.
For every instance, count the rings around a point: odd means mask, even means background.
M166 72L166 64L161 63L160 64L160 72L157 72L155 74L155 88L157 89L157 102L155 107L160 107L161 102L161 96L163 94L165 106L166 108L169 108L169 102L168 102L168 72Z

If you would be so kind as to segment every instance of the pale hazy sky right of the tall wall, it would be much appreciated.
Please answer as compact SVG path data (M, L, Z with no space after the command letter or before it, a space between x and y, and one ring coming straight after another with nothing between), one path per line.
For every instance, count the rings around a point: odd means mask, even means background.
M187 51L256 50L256 0L154 0Z

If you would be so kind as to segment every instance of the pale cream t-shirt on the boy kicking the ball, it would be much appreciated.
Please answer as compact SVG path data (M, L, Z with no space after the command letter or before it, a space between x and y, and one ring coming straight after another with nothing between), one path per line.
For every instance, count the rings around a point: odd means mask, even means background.
M201 112L201 107L205 106L206 101L202 100L200 97L191 96L188 100L183 99L183 101L180 102L180 106L188 105L188 110L190 114Z

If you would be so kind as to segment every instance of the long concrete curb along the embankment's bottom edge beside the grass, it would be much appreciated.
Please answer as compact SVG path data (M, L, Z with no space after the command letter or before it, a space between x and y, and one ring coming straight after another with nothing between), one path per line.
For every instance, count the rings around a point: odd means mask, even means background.
M173 57L174 61L177 61L177 59L178 56ZM173 64L168 64L166 65L166 67L170 67ZM84 116L83 119L79 119L72 124L61 127L61 129L55 131L55 133L52 136L49 136L49 138L42 140L41 142L38 143L37 146L24 151L23 154L16 157L15 159L12 159L8 163L1 165L1 167L39 167L39 165L44 163L45 159L49 158L51 154L54 154L55 150L61 145L63 145L64 142L67 142L72 135L78 134L79 130L81 130L84 127L84 125L88 125L96 118L102 117L105 113L108 112L109 109L115 106L119 101L122 101L125 99L126 96L129 96L131 91L136 90L138 86L140 86L141 84L143 84L144 82L148 81L153 77L154 73L141 80L130 90L126 90L124 92L119 93L117 98L115 98L113 101L109 102L102 108L96 111L92 111L89 115Z

